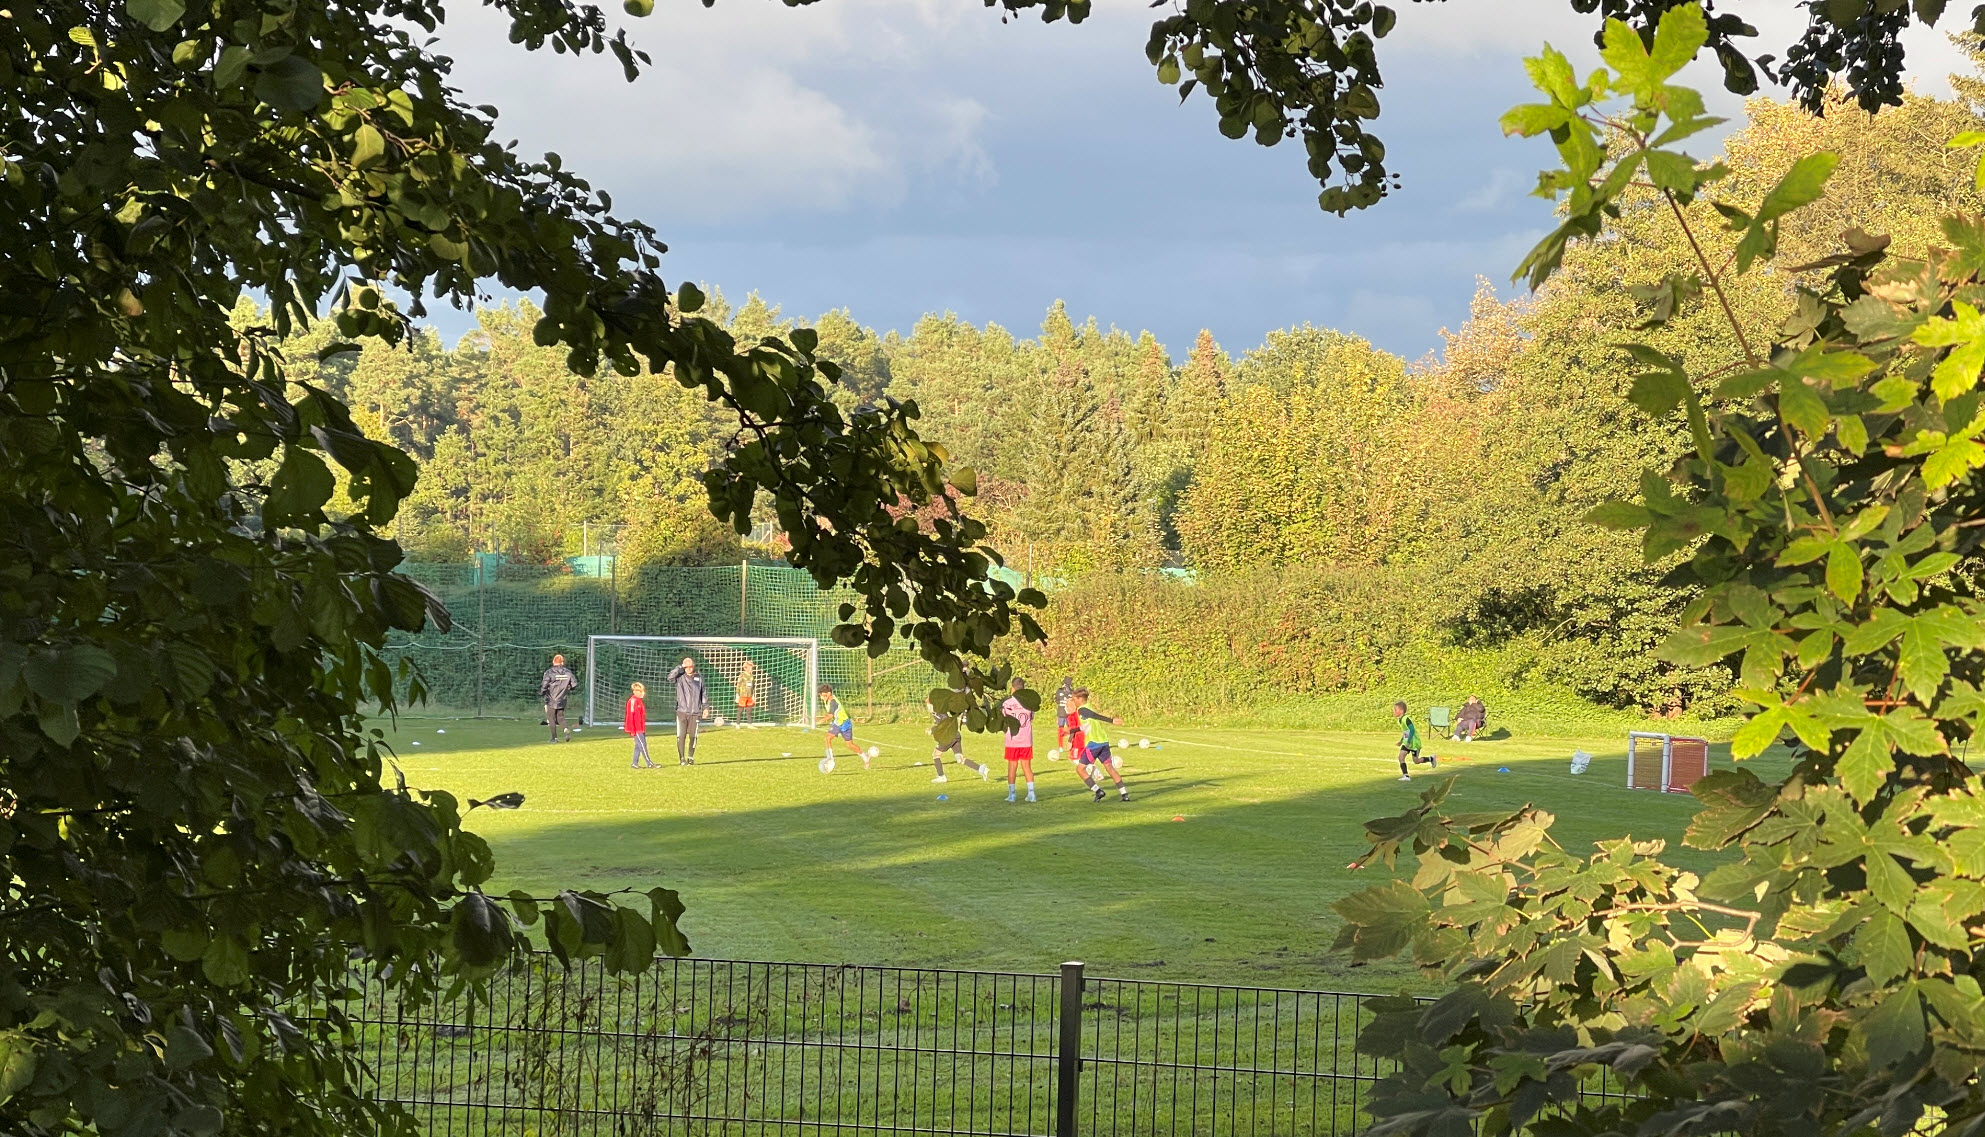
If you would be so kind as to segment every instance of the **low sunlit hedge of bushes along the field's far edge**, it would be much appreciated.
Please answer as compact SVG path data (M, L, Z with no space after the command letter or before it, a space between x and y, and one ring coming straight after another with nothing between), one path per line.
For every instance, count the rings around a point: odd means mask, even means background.
M1469 641L1467 609L1443 619L1445 603L1411 566L1239 569L1199 583L1092 573L1054 593L1048 643L1014 649L1012 663L1036 687L1074 675L1106 708L1161 718L1370 730L1393 698L1423 708L1467 695L1521 730L1727 710L1727 673L1650 657L1642 641L1659 613L1556 633L1522 621Z

